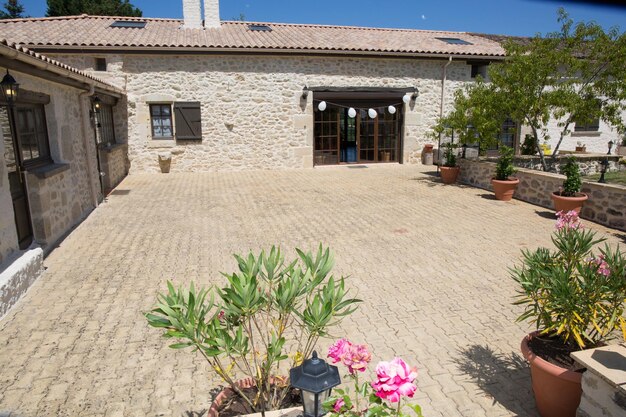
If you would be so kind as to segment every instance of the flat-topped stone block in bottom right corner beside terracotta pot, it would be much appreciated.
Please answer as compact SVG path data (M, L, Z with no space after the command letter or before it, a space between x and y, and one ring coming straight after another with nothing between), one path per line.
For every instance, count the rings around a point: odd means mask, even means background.
M613 345L572 354L587 368L583 373L583 395L577 417L626 415L626 346Z

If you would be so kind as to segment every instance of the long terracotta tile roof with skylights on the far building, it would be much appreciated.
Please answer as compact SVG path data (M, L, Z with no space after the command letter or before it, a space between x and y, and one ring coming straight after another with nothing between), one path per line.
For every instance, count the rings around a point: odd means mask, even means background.
M110 27L116 20L145 22L146 26L143 29ZM249 24L268 25L272 30L252 31ZM222 22L220 28L183 29L182 20L178 19L87 15L2 20L0 37L35 49L186 47L504 56L504 49L496 40L466 32L257 22ZM448 44L438 37L459 38L471 45Z

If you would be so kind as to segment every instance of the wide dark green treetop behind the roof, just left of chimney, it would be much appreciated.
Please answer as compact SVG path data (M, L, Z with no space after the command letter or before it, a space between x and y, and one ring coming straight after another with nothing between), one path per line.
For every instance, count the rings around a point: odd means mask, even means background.
M129 0L47 0L46 16L95 16L141 17L142 12Z

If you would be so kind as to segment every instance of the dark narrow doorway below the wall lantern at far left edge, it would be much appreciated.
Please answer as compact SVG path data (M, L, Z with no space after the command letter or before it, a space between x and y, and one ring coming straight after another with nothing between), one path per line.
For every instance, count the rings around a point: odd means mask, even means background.
M13 202L15 229L20 249L26 249L33 241L33 227L28 205L26 176L15 138L14 119L7 106L0 106L0 129L4 140L4 161L9 178L9 189Z

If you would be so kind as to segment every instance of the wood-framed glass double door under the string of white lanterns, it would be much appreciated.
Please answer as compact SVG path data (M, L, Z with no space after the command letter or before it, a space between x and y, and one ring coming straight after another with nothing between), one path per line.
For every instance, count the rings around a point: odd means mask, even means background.
M355 117L344 107L316 109L315 165L398 162L399 111L390 113L388 106L373 109L377 113L374 118L367 109L356 110Z

